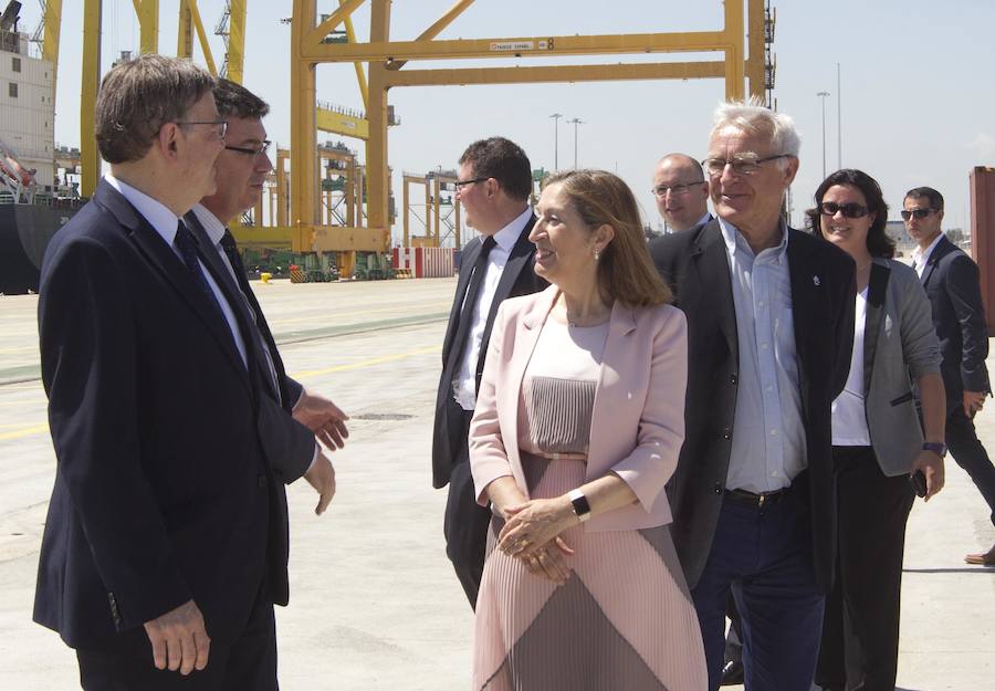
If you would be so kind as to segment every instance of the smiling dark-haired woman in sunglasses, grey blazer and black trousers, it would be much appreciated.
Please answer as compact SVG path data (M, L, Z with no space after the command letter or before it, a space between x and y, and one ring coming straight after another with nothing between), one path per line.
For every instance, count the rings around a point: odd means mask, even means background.
M929 501L943 486L940 346L919 276L892 259L878 182L837 170L815 201L813 230L857 264L850 376L832 402L839 532L816 683L894 691L905 521L915 492Z

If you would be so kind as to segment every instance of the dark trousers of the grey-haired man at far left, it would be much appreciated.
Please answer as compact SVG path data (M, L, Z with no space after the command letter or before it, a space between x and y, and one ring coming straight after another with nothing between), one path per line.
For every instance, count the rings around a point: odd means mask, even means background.
M260 588L249 621L234 642L211 641L203 670L186 677L158 670L151 647L142 657L77 650L80 684L85 691L277 691L276 621L264 591Z

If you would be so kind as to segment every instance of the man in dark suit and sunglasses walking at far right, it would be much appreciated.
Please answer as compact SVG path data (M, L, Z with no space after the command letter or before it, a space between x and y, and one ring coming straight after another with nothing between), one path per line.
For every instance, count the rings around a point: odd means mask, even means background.
M905 230L919 244L912 252L912 265L933 305L933 326L943 356L940 374L946 389L946 446L987 502L995 524L995 467L974 429L974 416L992 394L985 366L988 328L977 264L941 232L940 192L917 187L905 193L902 206ZM968 554L964 561L995 566L995 546Z

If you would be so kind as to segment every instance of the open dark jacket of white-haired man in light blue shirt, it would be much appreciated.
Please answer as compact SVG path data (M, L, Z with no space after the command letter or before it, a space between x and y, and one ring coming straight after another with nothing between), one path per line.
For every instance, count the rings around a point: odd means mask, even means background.
M735 306L718 220L653 240L651 254L674 292L674 305L688 316L684 446L668 494L674 546L694 587L712 548L735 433L740 368ZM793 229L787 258L808 454L813 566L819 585L828 589L836 544L829 409L850 370L853 261L832 244Z

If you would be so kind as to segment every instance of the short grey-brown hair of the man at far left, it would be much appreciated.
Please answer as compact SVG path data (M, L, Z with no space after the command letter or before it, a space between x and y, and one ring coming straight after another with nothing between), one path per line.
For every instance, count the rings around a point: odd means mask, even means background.
M111 164L139 160L166 123L180 121L214 86L189 60L146 54L118 63L101 83L95 136Z

